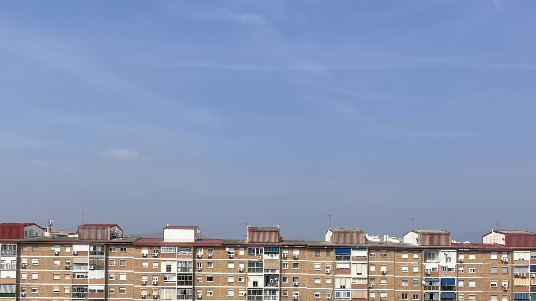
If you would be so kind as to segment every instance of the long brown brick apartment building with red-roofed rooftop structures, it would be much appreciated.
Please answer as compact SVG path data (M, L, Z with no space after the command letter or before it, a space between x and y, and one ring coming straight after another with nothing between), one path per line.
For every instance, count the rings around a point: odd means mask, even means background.
M34 226L0 227L0 301L536 301L530 231L451 243L448 231L426 229L399 242L368 241L359 228L303 241L284 240L278 226L249 226L245 240L201 238L196 226L131 238L116 224L29 237Z

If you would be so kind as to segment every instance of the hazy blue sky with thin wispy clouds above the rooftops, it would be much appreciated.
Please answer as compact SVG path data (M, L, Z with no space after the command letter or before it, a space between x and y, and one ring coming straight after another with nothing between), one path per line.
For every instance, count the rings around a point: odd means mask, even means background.
M2 2L0 219L534 230L534 9Z

